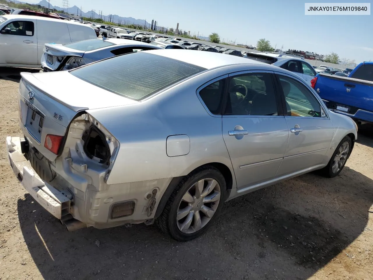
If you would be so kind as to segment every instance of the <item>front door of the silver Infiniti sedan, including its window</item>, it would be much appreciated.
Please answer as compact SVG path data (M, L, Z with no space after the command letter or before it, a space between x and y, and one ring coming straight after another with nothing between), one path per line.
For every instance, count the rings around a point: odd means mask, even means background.
M313 93L300 81L278 75L285 100L289 142L278 176L321 165L333 137L333 125Z

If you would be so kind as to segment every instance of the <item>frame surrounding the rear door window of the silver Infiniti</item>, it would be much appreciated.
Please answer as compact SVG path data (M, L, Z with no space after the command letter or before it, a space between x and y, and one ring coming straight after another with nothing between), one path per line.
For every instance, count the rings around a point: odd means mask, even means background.
M224 115L223 112L225 112L226 105L227 105L227 100L228 100L228 88L230 84L230 78L236 77L236 76L242 76L245 74L260 74L260 73L267 73L270 74L271 79L272 79L272 84L273 84L273 90L275 91L275 98L276 98L276 105L277 105L277 116L264 116L264 115ZM222 101L222 117L223 118L283 118L283 108L282 108L282 102L280 100L279 92L276 88L276 82L275 78L273 77L275 72L269 71L269 70L244 70L244 71L238 71L238 72L232 72L228 75L227 82L226 82L226 90L224 92L224 97Z

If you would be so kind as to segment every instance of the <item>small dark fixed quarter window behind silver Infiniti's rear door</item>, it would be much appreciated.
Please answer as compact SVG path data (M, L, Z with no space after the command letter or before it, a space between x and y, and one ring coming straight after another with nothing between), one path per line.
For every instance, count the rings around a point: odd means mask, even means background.
M223 97L224 81L220 80L200 90L200 96L207 109L214 115L220 114L220 103Z

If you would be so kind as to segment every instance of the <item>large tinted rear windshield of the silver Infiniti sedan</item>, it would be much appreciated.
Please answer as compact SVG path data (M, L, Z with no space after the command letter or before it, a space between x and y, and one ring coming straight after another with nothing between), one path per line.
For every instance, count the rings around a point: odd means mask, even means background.
M151 53L129 53L70 71L73 76L133 100L142 100L205 68Z

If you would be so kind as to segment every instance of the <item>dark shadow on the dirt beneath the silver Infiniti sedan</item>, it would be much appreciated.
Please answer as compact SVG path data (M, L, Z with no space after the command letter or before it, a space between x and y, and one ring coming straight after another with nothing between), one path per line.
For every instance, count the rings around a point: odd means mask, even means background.
M373 181L345 167L336 178L305 174L230 200L206 234L186 243L142 224L68 232L29 194L18 214L47 280L303 280L369 230L372 203Z

